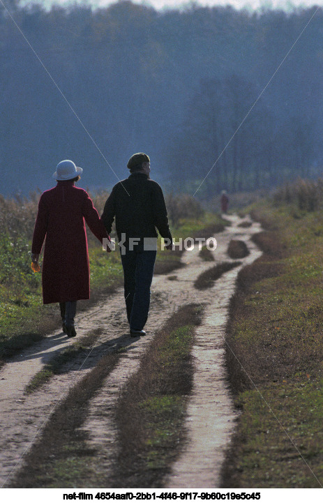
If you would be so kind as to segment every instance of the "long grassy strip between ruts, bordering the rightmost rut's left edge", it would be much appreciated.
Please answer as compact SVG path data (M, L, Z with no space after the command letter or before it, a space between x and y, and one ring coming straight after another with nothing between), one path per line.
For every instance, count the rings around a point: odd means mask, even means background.
M123 389L117 407L120 453L113 487L160 487L178 455L185 437L183 421L193 383L191 347L200 313L200 306L180 308L151 341L140 369Z

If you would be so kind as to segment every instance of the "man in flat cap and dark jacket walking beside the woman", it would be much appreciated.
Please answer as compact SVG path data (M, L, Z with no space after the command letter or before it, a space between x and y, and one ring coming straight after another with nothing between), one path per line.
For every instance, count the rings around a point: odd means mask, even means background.
M144 336L150 303L150 287L156 260L156 227L172 249L163 190L149 177L150 159L146 153L135 153L128 164L130 176L112 189L107 198L102 220L110 234L114 218L121 245L124 296L130 324L130 336Z

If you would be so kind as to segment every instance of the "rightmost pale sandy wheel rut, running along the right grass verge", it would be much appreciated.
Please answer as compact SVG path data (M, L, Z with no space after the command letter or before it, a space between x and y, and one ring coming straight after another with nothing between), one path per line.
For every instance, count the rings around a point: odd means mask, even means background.
M230 218L230 217L226 217ZM204 318L197 327L193 357L195 373L193 391L188 404L185 428L188 439L179 459L172 466L164 485L167 488L216 488L220 486L220 471L225 451L230 443L237 412L227 382L225 368L225 327L229 302L236 287L236 276L243 266L250 264L261 252L250 241L260 226L253 224L248 232L241 232L236 218L230 218L230 240L238 237L248 245L250 255L240 265L223 273L206 292L195 294L203 303ZM227 235L227 233L225 233ZM227 239L218 237L216 260L227 261ZM238 264L238 263L237 263Z

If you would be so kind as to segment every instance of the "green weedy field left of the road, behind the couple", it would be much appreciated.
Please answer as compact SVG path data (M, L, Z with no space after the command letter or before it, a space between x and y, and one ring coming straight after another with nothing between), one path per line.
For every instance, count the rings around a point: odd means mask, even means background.
M102 213L108 193L92 195L93 204ZM42 305L41 274L31 270L31 239L40 194L28 198L0 196L0 362L17 354L22 348L43 338L60 322L55 305ZM223 225L220 218L205 213L192 197L167 197L170 223L175 238L203 230L207 225ZM193 218L194 216L194 218ZM196 218L197 217L197 218ZM81 301L79 310L96 303L100 296L110 294L123 283L119 253L107 255L87 230L91 271L91 299ZM112 230L112 238L116 238ZM160 246L160 241L158 242ZM179 266L181 253L160 253L156 273L172 271ZM41 257L40 257L41 263Z

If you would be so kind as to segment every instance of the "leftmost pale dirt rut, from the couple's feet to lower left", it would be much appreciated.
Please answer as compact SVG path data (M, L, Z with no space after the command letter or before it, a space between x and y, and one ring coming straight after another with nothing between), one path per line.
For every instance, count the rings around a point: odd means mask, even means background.
M89 350L87 357L73 359L65 372L54 375L37 391L25 395L24 388L54 354L75 342L57 330L44 340L25 350L0 371L0 486L23 463L24 453L39 437L43 426L68 389L88 373L105 352L131 343L126 320L123 320L124 299L118 292L110 301L109 311L100 303L77 317L77 333L102 329L102 335ZM100 315L99 315L100 314ZM113 318L111 320L110 318ZM106 323L110 330L106 333ZM118 329L115 328L118 326Z

